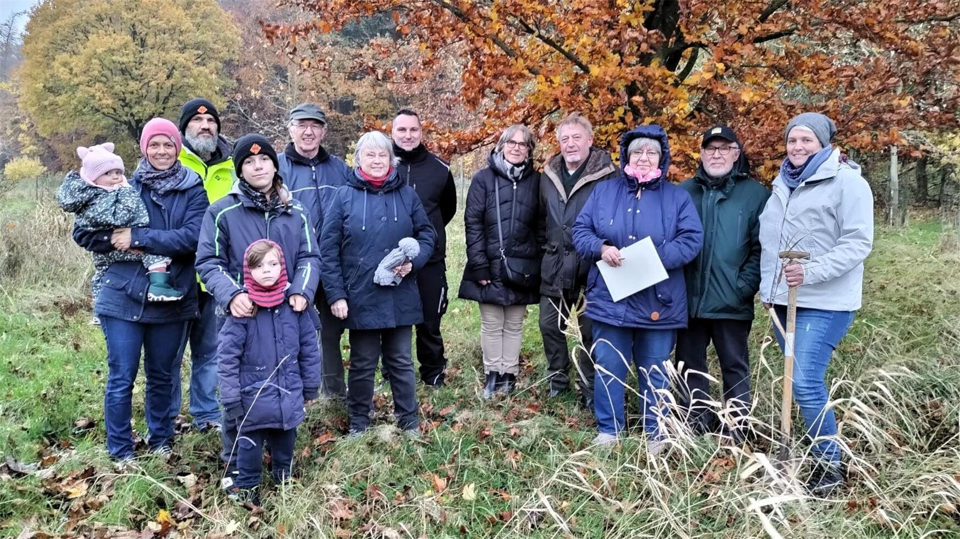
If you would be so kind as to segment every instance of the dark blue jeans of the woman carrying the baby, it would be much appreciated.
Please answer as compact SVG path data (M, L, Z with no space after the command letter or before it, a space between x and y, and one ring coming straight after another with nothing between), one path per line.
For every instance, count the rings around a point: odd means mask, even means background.
M130 428L133 381L140 367L147 384L144 394L147 429L151 449L167 445L174 435L170 417L174 380L180 378L180 354L189 322L140 324L100 315L101 329L107 341L107 394L104 397L104 423L107 425L107 451L113 458L133 453Z

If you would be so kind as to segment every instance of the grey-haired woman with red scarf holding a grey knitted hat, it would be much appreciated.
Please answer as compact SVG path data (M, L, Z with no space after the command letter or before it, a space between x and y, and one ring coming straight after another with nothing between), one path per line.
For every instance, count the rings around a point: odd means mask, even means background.
M361 136L354 161L348 184L337 189L324 215L320 235L326 299L350 331L350 435L370 427L373 377L381 356L394 394L396 426L416 434L420 418L411 338L413 327L423 321L417 272L433 253L436 233L417 192L397 176L394 147L386 135ZM380 260L404 237L417 240L420 254L393 268L399 283L373 282Z

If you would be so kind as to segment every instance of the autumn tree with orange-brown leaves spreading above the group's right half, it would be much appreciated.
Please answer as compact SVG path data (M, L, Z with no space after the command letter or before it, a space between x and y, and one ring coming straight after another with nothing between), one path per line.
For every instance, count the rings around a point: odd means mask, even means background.
M898 141L901 130L957 123L958 0L287 3L313 18L264 30L308 68L324 69L324 59L304 43L376 12L396 19L395 44L380 45L384 61L404 46L422 52L401 68L358 66L382 82L429 86L444 59L463 59L456 101L479 119L440 141L447 154L511 123L547 136L562 114L581 110L611 149L637 124L664 126L678 175L695 168L697 135L730 124L769 176L782 129L800 111L828 114L839 143L860 151Z

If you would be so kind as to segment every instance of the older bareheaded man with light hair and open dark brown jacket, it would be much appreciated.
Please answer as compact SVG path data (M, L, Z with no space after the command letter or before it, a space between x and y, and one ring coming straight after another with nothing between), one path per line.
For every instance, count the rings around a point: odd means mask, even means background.
M610 154L593 147L593 129L587 118L574 112L557 127L560 153L543 167L540 180L540 226L545 229L540 282L540 334L547 360L550 397L569 389L570 352L564 330L570 313L583 307L590 262L573 248L573 223L590 193L600 182L617 176ZM577 352L577 385L581 404L593 409L592 326L586 316L577 316L582 348ZM579 345L578 345L579 346Z

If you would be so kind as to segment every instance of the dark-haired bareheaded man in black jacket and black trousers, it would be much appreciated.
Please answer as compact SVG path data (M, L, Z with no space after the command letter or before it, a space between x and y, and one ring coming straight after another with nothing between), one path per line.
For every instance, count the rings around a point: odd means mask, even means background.
M440 320L446 312L445 227L457 212L457 186L450 165L423 146L420 116L413 110L396 113L393 127L394 151L400 159L397 172L420 196L423 210L437 231L433 256L417 274L423 323L417 325L417 359L420 379L431 387L444 385L446 356Z

